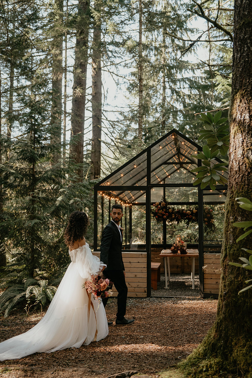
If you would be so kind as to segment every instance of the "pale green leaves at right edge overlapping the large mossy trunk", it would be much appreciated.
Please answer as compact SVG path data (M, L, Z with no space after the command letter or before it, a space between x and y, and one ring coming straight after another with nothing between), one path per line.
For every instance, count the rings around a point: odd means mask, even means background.
M235 199L239 203L240 208L245 209L247 211L252 211L252 202L250 200L248 200L247 198L243 198L243 197L238 197L238 198L235 198ZM252 226L252 222L251 221L235 222L235 223L233 223L233 226L235 226L235 227L241 227L245 231L248 227ZM238 243L240 240L244 239L246 236L248 236L249 234L251 234L251 232L252 232L252 229L250 229L247 232L244 232L244 234L242 234L240 237L238 237L238 239L236 240L236 242ZM229 265L240 266L240 268L244 268L244 269L247 269L247 270L252 270L252 250L251 249L247 249L247 248L241 248L241 249L243 249L244 251L246 251L247 253L250 254L249 259L246 259L246 257L239 257L239 259L244 262L243 264L239 264L237 262L229 262ZM252 279L246 280L245 283L249 283L251 281L252 281ZM246 291L246 290L248 290L250 288L252 288L252 285L244 287L243 289L241 289L238 292L238 294L240 294L243 291Z

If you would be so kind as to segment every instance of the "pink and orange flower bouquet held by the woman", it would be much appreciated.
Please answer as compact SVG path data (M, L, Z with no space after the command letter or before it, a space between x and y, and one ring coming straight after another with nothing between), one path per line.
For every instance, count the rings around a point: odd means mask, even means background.
M113 294L112 290L108 290L109 279L103 279L99 274L93 274L90 280L87 280L83 288L87 289L87 292L90 294L92 293L94 299L98 302L102 300L102 298L111 297Z

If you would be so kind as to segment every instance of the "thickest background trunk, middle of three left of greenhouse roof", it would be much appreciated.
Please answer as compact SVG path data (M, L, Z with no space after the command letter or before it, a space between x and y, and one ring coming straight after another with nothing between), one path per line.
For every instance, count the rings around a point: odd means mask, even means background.
M88 63L88 31L90 25L89 0L79 0L75 61L74 83L71 116L71 143L70 158L76 163L83 164L85 100L87 86ZM78 181L83 180L83 167L77 169Z

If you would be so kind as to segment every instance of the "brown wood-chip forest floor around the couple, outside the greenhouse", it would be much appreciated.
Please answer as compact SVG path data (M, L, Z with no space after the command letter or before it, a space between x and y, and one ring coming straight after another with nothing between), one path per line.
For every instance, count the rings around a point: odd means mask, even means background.
M135 318L133 324L113 323L107 338L79 349L4 361L0 363L0 378L105 378L127 370L159 377L200 344L215 320L216 307L217 300L199 297L128 298L126 316ZM106 312L108 320L114 321L116 298L108 301ZM1 316L1 341L27 331L42 316L20 312Z

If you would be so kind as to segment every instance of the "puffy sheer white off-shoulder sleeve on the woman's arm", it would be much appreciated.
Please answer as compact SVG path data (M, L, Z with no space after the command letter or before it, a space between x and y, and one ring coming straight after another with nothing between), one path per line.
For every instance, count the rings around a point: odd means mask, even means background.
M103 263L99 260L99 257L94 256L89 248L88 244L83 245L76 254L76 265L79 274L82 278L89 279L91 274L95 274L102 270Z

